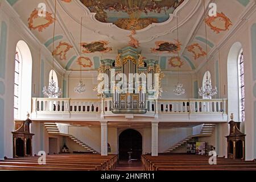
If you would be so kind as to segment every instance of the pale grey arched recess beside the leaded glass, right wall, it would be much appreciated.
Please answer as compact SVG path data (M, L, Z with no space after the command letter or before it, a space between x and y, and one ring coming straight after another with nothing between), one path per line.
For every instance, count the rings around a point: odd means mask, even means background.
M238 84L238 57L240 56L242 44L236 42L229 49L227 61L228 73L228 114L234 113L234 118L241 121L240 93Z

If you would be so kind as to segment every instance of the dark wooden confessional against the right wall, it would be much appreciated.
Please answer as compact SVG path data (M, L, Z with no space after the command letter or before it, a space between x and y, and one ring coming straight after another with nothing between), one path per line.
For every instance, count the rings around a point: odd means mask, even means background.
M233 114L229 122L230 132L228 140L228 158L245 160L245 134L240 131L240 122L233 121Z

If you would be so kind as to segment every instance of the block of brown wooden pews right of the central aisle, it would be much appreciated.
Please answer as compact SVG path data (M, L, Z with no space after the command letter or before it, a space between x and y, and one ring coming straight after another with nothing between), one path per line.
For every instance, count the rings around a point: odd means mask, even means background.
M202 155L142 155L144 170L256 170L255 161L217 158L217 165L209 164L210 156Z

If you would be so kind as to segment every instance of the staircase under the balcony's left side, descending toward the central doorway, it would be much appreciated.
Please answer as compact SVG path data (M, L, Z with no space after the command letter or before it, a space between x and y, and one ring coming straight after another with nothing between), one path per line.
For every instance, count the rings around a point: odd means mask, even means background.
M46 128L48 134L50 135L65 135L68 138L70 138L71 140L73 140L73 142L76 142L77 144L79 144L80 146L84 147L86 152L90 152L93 154L98 154L98 152L96 150L94 150L92 147L88 146L87 144L83 143L81 140L73 137L70 134L65 134L65 133L60 133L60 130L57 126L57 123L44 123L44 127Z

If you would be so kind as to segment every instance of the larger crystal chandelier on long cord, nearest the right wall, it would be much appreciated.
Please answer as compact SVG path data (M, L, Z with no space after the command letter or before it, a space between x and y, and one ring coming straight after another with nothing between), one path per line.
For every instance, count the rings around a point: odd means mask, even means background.
M205 0L204 0L204 16L206 16L205 13ZM206 19L206 17L205 17ZM208 77L208 47L207 47L207 24L204 21L204 25L205 25L205 47L206 47L206 51L207 51L207 79L205 80L205 82L203 83L203 86L199 89L199 96L203 96L203 97L212 97L215 96L218 91L217 91L217 87L216 86L212 86L212 82L211 79Z

